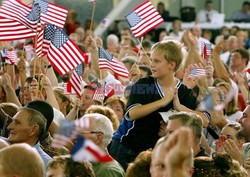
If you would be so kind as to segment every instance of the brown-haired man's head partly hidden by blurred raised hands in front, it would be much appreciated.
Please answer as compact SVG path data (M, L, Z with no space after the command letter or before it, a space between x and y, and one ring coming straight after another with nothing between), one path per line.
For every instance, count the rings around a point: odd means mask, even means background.
M181 112L169 116L167 132L172 133L176 129L187 126L193 131L194 142L200 144L202 133L202 121L193 113Z

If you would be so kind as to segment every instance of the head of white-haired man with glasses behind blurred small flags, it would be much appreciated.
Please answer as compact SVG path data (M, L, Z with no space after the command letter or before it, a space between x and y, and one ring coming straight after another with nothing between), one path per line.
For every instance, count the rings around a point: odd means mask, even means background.
M111 121L101 114L85 114L81 119L89 118L90 127L83 132L83 135L92 140L102 149L106 149L113 136Z

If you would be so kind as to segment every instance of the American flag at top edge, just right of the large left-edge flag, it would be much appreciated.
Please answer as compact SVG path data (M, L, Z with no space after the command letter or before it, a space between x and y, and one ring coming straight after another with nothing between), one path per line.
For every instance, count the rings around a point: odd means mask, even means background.
M68 13L66 8L45 0L35 0L34 3L38 3L41 7L42 24L54 24L63 29Z

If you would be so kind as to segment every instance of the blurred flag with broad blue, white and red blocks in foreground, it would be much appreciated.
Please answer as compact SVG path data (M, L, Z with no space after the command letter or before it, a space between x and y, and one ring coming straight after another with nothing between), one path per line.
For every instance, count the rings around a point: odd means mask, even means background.
M105 153L93 141L78 136L76 145L71 153L72 159L77 162L111 162L112 157Z

